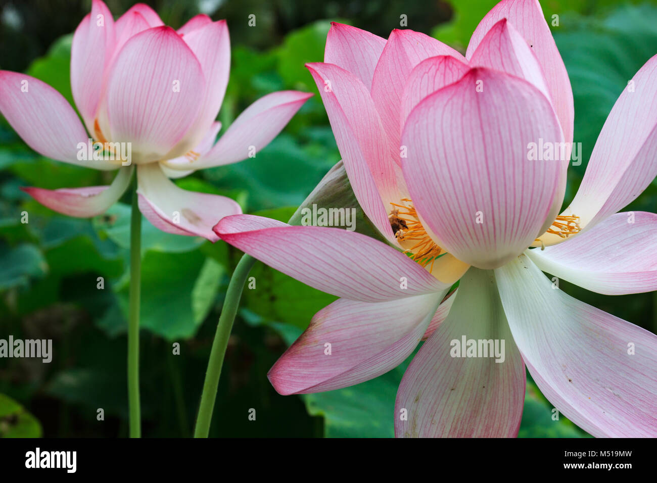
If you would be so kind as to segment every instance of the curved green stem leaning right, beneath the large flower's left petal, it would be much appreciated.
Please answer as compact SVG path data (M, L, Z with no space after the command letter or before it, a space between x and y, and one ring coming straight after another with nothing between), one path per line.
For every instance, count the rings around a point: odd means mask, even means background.
M235 321L235 314L240 304L246 276L254 263L256 263L256 260L253 257L244 254L238 262L237 267L235 267L233 277L231 277L231 281L228 284L226 298L223 302L221 315L219 316L219 323L217 324L217 332L214 335L212 350L210 351L208 371L206 371L203 393L198 407L198 417L196 417L194 438L207 438L210 432L210 421L212 421L212 410L214 409L214 402L217 398L217 387L219 386L223 357L226 354L228 338L231 335L231 330L233 330L233 321Z

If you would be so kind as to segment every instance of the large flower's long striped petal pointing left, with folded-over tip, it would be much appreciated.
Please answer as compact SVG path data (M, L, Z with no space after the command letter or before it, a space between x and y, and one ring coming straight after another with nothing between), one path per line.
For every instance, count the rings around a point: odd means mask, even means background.
M350 300L384 302L451 286L392 246L355 231L290 226L250 215L222 219L214 231L270 267Z

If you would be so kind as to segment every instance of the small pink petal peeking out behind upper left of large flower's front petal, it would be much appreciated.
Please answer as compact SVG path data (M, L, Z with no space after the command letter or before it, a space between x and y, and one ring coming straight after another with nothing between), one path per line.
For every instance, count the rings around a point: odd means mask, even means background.
M451 55L429 57L417 64L406 81L401 97L401 128L403 129L411 110L422 99L461 79L468 70L468 64Z

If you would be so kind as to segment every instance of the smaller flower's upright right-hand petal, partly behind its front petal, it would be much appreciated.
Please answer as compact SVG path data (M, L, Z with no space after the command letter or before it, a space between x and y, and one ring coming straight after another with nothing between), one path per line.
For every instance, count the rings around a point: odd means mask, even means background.
M206 80L200 112L185 140L173 148L166 158L179 156L200 143L212 126L223 101L231 68L231 41L225 20L213 22L189 32L183 37L201 64Z

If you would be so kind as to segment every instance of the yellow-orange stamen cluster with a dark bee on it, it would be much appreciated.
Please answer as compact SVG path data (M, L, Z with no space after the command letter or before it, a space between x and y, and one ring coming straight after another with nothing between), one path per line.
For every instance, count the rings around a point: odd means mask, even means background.
M429 271L432 271L436 257L440 255L442 250L431 239L429 234L426 233L422 223L420 223L415 207L411 204L411 200L409 198L402 198L401 201L408 203L408 206L405 204L390 203L394 206L390 212L390 216L388 216L390 226L395 233L397 241L400 243L415 242L410 248L404 250L404 252L412 254L411 258L423 267L426 267L431 262Z

